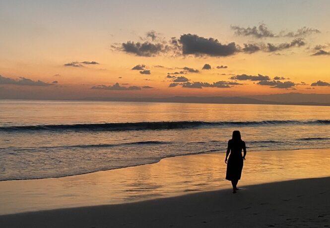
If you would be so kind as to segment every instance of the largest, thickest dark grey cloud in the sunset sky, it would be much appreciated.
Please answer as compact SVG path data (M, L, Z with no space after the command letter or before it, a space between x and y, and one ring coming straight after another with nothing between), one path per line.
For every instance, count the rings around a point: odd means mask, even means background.
M213 38L199 37L198 35L184 34L180 37L183 55L195 56L230 56L238 50L234 42L227 45L219 43Z

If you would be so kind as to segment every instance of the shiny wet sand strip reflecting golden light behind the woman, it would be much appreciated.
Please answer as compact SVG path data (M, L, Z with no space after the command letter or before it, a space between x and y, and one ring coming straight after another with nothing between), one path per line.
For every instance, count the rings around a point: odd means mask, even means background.
M330 176L330 149L285 152L249 153L238 186ZM0 215L121 205L230 189L230 181L224 179L224 156L222 153L175 156L154 164L116 170L58 178L1 181Z

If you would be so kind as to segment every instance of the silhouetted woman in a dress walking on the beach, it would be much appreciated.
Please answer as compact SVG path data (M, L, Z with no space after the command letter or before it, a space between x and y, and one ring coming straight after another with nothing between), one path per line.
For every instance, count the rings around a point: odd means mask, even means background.
M242 156L242 150L244 155ZM228 155L229 159L228 158ZM243 160L245 160L245 142L241 139L240 131L233 131L233 137L228 141L225 163L227 164L226 180L231 180L233 193L236 193L238 180L241 179Z

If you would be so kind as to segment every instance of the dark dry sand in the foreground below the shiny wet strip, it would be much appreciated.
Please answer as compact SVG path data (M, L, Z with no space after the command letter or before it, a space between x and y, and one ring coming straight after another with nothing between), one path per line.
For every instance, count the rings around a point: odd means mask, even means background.
M0 216L11 228L328 227L330 177L244 186L117 205Z

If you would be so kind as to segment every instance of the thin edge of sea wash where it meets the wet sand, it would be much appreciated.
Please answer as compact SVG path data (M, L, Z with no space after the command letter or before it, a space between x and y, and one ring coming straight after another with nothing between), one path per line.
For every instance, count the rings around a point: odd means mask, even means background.
M247 148L248 149L248 148ZM280 152L280 151L300 151L300 150L330 150L330 147L326 148L308 148L308 149L287 149L287 150L260 150L260 151L248 151L248 153L258 153L258 152ZM220 151L220 150L219 150ZM145 165L152 165L152 164L157 164L161 162L164 159L169 159L169 158L176 158L176 157L184 157L184 156L197 156L197 155L208 155L208 154L226 154L226 152L223 153L210 153L210 152L200 152L197 154L184 154L184 155L173 155L173 156L168 156L164 158L160 158L157 162L151 162L151 163L144 163L140 165L133 165L133 166L125 166L125 167L120 167L120 168L114 168L114 169L107 169L107 170L98 170L98 171L91 171L91 172L84 172L84 173L78 173L78 174L72 174L72 175L65 175L65 176L55 176L55 177L41 177L41 178L31 178L31 179L10 179L10 180L0 180L0 183L3 181L23 181L23 180L42 180L42 179L56 179L56 178L65 178L65 177L70 177L70 176L79 176L79 175L88 175L96 172L103 172L103 171L113 171L113 170L121 170L121 169L126 169L126 168L131 168L131 167L138 167L138 166L145 166Z

